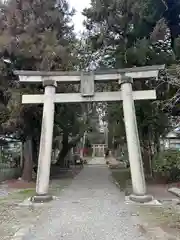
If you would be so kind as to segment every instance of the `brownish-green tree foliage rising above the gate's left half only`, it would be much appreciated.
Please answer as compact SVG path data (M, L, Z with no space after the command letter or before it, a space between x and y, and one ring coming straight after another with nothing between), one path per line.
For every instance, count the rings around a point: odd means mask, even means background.
M1 6L0 50L14 55L18 69L68 69L72 14L65 0L7 1Z

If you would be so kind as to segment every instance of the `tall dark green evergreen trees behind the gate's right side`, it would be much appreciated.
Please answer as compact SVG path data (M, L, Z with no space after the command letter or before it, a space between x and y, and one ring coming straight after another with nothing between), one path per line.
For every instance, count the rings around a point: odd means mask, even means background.
M174 69L179 62L180 1L154 0L92 0L84 10L87 42L99 68L123 68L166 64ZM171 99L179 90L172 82L172 73L161 73L158 81L134 82L134 88L156 88L158 100L136 102L136 114L147 172L149 160L159 151L159 138L171 127ZM169 77L168 77L169 76ZM177 75L176 84L178 82ZM110 86L112 88L114 86ZM119 86L117 86L119 88ZM177 100L177 97L175 98ZM165 101L166 100L166 101ZM166 102L166 104L165 104ZM165 105L164 105L165 104ZM119 104L107 107L111 135L116 127L124 135L123 114ZM118 124L120 123L120 124ZM114 135L111 138L115 137ZM111 141L110 141L111 142Z

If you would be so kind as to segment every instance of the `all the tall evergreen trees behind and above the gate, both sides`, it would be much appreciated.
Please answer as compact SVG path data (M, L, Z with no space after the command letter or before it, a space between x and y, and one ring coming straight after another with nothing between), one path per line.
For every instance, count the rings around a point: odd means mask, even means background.
M12 69L68 71L166 64L168 71L158 80L134 82L135 89L156 88L158 95L157 101L136 103L143 159L150 171L149 159L159 151L159 138L171 128L172 113L179 111L179 4L179 0L92 0L84 10L86 31L80 41L73 32L74 11L66 0L1 3L0 131L23 141L24 179L31 178L32 163L37 162L42 106L21 105L20 96L42 93L43 88L19 84ZM119 88L112 84L96 87ZM79 85L57 88L57 92L72 91L79 91ZM109 122L109 142L125 142L121 105L101 106ZM69 149L91 125L94 109L82 104L56 106L53 146L61 149L61 166Z

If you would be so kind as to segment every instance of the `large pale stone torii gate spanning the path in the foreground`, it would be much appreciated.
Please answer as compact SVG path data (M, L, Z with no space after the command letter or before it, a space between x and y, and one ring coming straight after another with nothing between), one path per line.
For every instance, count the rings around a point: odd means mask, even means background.
M52 199L48 194L51 164L54 104L77 102L123 101L124 120L128 144L133 194L130 199L138 202L152 200L146 193L146 184L134 108L134 100L156 99L155 90L132 91L133 79L157 78L164 66L135 67L130 69L108 70L106 72L40 72L15 71L20 82L42 82L44 94L23 95L23 104L43 104L42 129L38 158L36 195L32 201L43 202ZM120 91L95 92L95 81L119 81ZM57 83L81 83L80 93L56 94Z

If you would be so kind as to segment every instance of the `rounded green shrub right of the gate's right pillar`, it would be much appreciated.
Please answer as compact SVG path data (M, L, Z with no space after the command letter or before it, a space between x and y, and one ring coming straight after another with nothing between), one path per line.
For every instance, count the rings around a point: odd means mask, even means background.
M166 150L155 155L153 172L169 182L180 180L180 151Z

